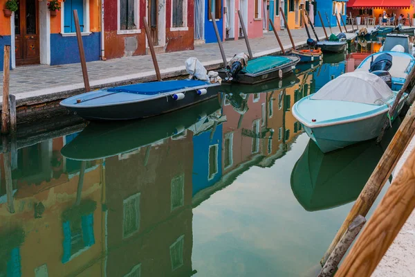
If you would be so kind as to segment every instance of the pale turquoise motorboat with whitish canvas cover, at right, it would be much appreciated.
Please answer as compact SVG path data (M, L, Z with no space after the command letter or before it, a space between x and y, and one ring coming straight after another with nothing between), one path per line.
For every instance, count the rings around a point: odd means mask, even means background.
M378 75L354 71L340 75L317 93L296 102L292 113L326 153L376 138L396 94ZM389 117L391 120L400 113L406 98L405 93L396 114Z

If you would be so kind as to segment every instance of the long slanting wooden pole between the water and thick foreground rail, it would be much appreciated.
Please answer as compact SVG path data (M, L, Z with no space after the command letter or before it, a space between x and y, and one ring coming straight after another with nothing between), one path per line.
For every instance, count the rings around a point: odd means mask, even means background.
M407 144L412 139L414 134L415 105L412 105L407 112L407 116L405 116L403 122L400 124L394 138L391 140L387 149L383 153L374 172L372 172L369 177L365 188L362 189L362 192L360 193L358 199L356 199L351 211L347 215L342 226L340 226L338 233L336 233L335 238L333 238L329 249L327 249L322 260L320 261L322 265L324 265L326 260L329 258L336 244L338 244L349 224L356 218L356 216L362 215L365 217L367 215L369 209L374 204L376 197L378 197L380 190L382 190L386 181L389 179L389 176L391 176L392 170L394 170L396 163L398 163L398 160L402 156Z

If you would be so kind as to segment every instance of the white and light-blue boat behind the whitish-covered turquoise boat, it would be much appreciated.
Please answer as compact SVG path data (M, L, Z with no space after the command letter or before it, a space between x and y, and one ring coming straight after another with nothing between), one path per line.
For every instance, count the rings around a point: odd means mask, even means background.
M412 67L415 66L415 57L413 55L409 55L408 53L402 53L402 52L396 52L396 51L382 51L379 53L374 53L372 55L369 55L369 57L366 57L365 60L363 60L356 71L371 71L372 64L371 62L376 62L378 57L381 59L382 54L389 54L391 55L391 67L388 70L391 74L392 79L392 90L398 91L405 83L405 80L409 74L409 72L412 70ZM377 62L382 62L381 60L378 60ZM409 89L413 87L413 83L411 83L408 87Z

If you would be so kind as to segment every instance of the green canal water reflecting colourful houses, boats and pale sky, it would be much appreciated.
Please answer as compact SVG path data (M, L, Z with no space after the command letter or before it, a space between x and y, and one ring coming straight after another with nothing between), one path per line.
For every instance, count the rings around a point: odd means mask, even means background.
M354 70L344 56L164 116L18 140L1 156L0 276L315 276L392 135L324 155L291 114Z

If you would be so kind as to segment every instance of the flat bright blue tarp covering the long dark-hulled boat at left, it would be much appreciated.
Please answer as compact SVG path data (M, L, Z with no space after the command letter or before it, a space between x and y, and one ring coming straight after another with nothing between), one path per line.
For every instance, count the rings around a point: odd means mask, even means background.
M178 89L185 89L187 87L208 86L208 84L210 83L201 80L171 80L162 82L143 82L139 84L128 84L126 86L113 87L111 89L107 89L107 91L154 95L158 93L176 91Z

